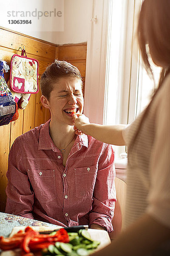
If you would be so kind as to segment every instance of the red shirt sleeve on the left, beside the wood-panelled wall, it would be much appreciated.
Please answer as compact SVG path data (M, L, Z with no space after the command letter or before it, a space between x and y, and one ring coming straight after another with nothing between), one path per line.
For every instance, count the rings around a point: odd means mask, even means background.
M34 192L24 167L24 159L20 144L17 140L11 146L8 156L8 184L6 187L6 213L34 219L32 205Z

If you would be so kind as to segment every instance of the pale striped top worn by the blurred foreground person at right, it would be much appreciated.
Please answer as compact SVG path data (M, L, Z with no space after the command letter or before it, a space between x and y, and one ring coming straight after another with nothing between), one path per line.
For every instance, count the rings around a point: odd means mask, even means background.
M123 131L129 148L125 225L147 212L170 227L170 75L141 124L143 114Z

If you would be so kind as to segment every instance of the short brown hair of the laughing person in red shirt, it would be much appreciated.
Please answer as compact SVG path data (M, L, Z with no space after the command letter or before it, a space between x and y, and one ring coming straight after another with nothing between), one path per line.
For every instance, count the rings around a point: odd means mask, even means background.
M44 73L42 73L40 80L41 93L47 99L50 98L50 93L53 90L53 84L62 77L70 77L71 79L80 80L82 83L82 77L77 67L74 67L67 61L55 60L50 64Z

